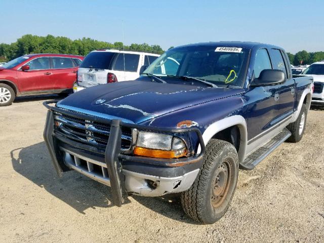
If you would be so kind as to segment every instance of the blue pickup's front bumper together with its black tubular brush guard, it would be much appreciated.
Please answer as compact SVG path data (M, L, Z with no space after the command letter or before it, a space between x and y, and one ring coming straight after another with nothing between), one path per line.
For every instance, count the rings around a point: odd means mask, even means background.
M89 146L69 141L54 133L53 111L68 112L75 117L80 114L49 106L49 103L53 102L44 102L49 109L44 140L58 175L62 176L62 172L73 169L110 186L114 205L121 206L127 193L161 196L185 191L194 182L203 163L205 144L197 128L159 129L96 117L97 121L100 119L101 123L110 125L110 135L104 155L98 156L94 151L90 151ZM87 115L82 114L82 116ZM157 159L125 154L120 149L121 126L155 132L194 132L198 137L201 152L198 155L179 159Z

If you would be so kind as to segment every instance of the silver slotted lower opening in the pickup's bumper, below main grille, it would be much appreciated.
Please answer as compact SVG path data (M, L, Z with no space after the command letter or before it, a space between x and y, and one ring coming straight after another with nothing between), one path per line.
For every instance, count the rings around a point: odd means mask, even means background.
M102 184L110 186L107 165L105 163L86 158L83 155L74 153L63 147L60 147L60 149L65 153L64 163L67 167Z

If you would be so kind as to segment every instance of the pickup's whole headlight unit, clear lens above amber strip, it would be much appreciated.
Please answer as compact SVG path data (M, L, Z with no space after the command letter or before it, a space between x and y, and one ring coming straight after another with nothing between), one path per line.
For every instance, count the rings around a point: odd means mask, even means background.
M155 158L178 158L187 154L187 148L184 141L178 137L139 132L134 154Z

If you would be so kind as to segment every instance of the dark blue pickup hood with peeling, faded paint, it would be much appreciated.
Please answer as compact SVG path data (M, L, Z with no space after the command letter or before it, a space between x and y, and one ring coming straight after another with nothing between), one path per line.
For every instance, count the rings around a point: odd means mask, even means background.
M61 100L57 106L139 124L169 112L242 92L243 89L201 88L190 84L159 84L136 80L88 88Z

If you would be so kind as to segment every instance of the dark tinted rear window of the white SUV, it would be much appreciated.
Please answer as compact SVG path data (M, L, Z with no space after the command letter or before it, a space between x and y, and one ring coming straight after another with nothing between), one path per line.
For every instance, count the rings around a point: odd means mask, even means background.
M94 69L111 69L110 63L115 52L91 52L82 61L80 67Z

